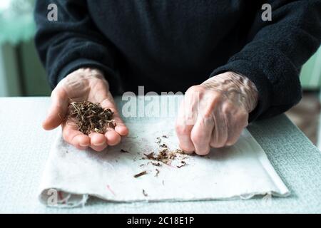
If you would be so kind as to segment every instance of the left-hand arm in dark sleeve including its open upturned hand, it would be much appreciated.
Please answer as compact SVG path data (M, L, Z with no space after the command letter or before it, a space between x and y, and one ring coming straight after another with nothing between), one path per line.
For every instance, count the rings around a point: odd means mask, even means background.
M47 7L51 3L58 6L58 21L47 19ZM39 0L35 19L36 47L54 88L44 129L52 130L61 125L63 139L80 150L91 147L101 151L121 142L121 137L128 134L128 128L121 120L109 89L109 84L116 88L114 50L91 21L86 1ZM89 100L110 108L116 128L104 135L84 135L73 120L65 120L70 99Z

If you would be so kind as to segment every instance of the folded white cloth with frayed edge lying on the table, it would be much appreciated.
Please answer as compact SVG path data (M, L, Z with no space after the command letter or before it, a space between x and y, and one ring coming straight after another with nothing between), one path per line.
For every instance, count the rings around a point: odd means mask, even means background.
M41 180L41 202L76 207L89 196L135 202L289 195L248 130L235 145L212 149L201 157L177 150L172 120L126 125L130 135L103 152L79 151L58 133ZM158 157L162 150L167 160Z

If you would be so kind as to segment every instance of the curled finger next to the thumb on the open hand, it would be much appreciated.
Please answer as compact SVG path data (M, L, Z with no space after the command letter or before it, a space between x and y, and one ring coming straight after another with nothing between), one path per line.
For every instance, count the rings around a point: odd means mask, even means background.
M91 144L89 136L78 131L76 124L71 121L62 124L62 133L63 140L80 150L85 150Z

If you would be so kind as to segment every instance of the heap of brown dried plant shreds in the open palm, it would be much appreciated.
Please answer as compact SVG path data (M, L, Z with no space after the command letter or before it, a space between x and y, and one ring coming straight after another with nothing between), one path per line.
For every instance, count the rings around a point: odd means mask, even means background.
M93 132L104 134L108 128L115 128L113 112L90 101L71 102L68 107L68 120L76 121L78 130L86 135Z

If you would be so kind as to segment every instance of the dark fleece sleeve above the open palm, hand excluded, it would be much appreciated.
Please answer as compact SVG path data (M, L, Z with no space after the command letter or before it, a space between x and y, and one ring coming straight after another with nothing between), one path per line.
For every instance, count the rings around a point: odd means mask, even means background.
M58 7L58 20L49 21L49 4ZM54 88L62 78L78 68L97 68L116 88L115 50L103 38L88 13L86 0L36 1L36 48Z

